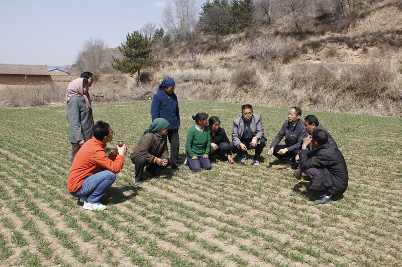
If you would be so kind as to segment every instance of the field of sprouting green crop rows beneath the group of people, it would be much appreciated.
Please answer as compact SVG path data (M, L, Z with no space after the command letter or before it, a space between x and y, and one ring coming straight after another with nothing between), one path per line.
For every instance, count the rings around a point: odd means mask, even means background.
M149 125L150 101L93 106L94 120L130 152ZM220 117L231 132L240 105L179 102L179 159L191 115ZM287 110L255 107L268 142ZM166 169L134 183L126 164L105 197L85 211L67 191L71 146L65 107L0 109L0 262L25 266L399 266L402 127L400 119L316 115L336 140L349 187L324 206L263 151L256 168L213 160L211 171ZM235 162L238 157L235 157ZM294 166L293 166L294 168Z

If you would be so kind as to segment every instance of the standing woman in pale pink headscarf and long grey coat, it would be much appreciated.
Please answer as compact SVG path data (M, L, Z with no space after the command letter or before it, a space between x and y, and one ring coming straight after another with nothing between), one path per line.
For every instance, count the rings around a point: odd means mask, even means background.
M71 143L71 162L85 141L93 137L91 99L88 80L78 78L68 84L66 91L67 120L70 124L68 141Z

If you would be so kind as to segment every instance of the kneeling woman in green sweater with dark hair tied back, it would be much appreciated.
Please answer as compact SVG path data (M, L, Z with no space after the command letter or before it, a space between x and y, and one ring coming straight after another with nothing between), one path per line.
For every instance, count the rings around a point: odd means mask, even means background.
M208 114L198 113L192 116L195 125L191 126L185 141L185 153L187 164L190 170L198 171L201 168L210 170L211 161L209 159L211 147L211 134L208 129Z

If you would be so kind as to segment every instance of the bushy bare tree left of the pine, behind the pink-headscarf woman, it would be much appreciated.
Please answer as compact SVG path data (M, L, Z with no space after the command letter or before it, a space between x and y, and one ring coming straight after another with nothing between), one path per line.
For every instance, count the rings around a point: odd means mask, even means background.
M100 70L108 62L108 45L103 39L89 39L81 46L81 51L75 61L75 68L78 73L85 71L98 76Z

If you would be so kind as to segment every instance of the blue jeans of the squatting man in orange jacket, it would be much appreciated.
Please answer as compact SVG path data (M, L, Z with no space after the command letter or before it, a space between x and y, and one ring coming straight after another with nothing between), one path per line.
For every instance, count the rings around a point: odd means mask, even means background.
M116 174L110 170L102 169L98 173L85 178L81 188L71 193L75 197L87 196L86 202L91 204L99 202L99 199L109 190L116 180Z

